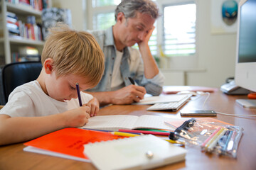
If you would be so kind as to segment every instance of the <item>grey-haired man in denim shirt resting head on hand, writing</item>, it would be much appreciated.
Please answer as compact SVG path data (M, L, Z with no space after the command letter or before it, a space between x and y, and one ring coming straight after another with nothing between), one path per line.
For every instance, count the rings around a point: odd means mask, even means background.
M87 92L101 106L138 102L146 93L161 94L164 76L148 45L158 17L159 10L151 0L123 0L115 10L115 25L91 32L105 54L105 72L100 83ZM135 43L139 50L132 48Z

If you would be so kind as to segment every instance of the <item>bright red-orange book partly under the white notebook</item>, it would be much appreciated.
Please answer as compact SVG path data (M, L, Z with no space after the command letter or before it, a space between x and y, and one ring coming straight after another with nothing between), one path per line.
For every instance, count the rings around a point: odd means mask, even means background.
M24 143L28 146L24 150L89 162L89 159L83 154L83 145L120 138L124 137L112 135L110 132L65 128Z

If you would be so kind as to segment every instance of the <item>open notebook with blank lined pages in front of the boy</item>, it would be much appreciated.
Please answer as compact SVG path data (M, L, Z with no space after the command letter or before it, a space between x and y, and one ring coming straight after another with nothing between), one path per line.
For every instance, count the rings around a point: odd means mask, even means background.
M175 130L166 125L172 118L164 118L158 115L97 115L89 119L89 122L82 126L85 129L95 130L132 130L138 128Z

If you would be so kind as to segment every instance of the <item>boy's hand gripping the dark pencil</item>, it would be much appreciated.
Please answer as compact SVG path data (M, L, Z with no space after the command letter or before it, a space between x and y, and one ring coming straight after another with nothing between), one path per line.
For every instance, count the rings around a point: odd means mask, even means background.
M81 127L88 122L90 118L90 107L82 106L79 108L72 109L70 111L64 112L65 125L66 127Z

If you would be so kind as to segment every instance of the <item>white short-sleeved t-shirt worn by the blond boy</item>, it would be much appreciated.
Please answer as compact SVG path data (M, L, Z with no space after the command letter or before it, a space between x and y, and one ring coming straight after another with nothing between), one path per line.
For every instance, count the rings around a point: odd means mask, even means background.
M80 92L82 103L92 100L92 95ZM0 110L0 114L11 117L34 117L63 113L78 108L78 98L70 101L57 101L46 95L38 81L31 81L16 87L9 95L8 103Z

